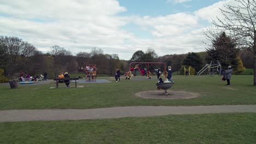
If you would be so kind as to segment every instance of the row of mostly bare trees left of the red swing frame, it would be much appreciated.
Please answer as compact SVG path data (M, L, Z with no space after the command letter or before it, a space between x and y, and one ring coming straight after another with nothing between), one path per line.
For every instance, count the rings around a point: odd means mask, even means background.
M117 54L104 54L101 49L92 48L91 52L73 55L71 51L55 45L43 53L17 37L0 36L0 53L0 69L9 79L15 79L20 72L39 76L46 71L50 79L65 71L78 74L83 73L86 64L97 64L97 71L102 74L113 74L116 68L125 70L127 67Z

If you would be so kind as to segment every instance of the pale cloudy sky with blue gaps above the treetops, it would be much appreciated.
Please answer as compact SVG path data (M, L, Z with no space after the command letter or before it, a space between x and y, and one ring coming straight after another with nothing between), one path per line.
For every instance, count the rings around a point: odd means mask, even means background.
M219 8L234 0L0 0L0 35L39 51L59 45L74 55L92 48L129 60L138 50L158 56L205 51L203 34Z

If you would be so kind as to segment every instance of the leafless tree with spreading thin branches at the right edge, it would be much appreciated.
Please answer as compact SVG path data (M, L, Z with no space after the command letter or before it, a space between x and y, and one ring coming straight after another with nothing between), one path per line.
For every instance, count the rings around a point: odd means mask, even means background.
M220 9L224 19L213 20L214 27L208 29L206 36L211 39L216 37L214 31L228 31L237 46L250 47L254 53L253 85L256 85L256 1L235 0L235 3L236 6L225 5L225 9Z

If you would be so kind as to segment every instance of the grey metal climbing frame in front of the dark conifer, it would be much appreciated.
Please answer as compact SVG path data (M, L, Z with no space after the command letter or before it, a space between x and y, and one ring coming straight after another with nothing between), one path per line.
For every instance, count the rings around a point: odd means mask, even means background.
M210 64L206 64L205 67L203 67L197 73L197 75L201 75L205 70L208 70L208 75L213 75L215 73L214 71L218 71L219 75L221 75L223 71L222 65L220 65L219 61L217 61L217 63L214 63L213 61L211 61Z

